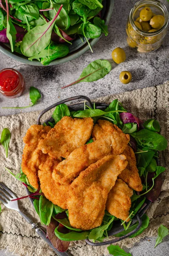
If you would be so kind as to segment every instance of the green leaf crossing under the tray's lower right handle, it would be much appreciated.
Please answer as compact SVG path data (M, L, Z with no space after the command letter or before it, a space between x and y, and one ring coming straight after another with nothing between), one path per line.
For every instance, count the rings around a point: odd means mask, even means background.
M149 225L149 217L146 214L144 214L141 217L141 220L142 220L142 225L141 225L140 229L135 234L130 236L130 238L140 235L148 227L148 225ZM138 226L138 221L134 225L130 226L127 230L121 231L120 233L116 234L115 236L121 237L121 236L127 235L131 231L135 230L135 228L137 226Z

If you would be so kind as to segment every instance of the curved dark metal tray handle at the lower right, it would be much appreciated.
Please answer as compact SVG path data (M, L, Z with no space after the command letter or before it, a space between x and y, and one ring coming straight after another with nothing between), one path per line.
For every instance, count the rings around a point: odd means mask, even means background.
M101 246L101 245L107 245L107 244L114 244L114 243L117 243L117 242L119 242L119 241L121 241L123 239L126 239L127 237L135 234L140 229L140 227L142 225L142 220L140 218L140 215L136 214L136 217L137 217L137 220L138 220L138 226L135 228L135 230L131 231L127 235L124 235L124 236L121 236L121 237L117 237L117 238L112 239L110 241L100 242L100 243L93 243L89 239L85 239L86 243L89 244L89 245L92 245L92 246Z

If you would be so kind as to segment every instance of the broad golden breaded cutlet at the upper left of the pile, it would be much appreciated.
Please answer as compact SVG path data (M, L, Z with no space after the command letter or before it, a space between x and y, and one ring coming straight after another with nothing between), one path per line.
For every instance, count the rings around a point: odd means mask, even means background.
M77 119L64 116L51 129L45 140L41 140L38 148L52 158L67 158L74 149L84 145L90 138L93 119Z

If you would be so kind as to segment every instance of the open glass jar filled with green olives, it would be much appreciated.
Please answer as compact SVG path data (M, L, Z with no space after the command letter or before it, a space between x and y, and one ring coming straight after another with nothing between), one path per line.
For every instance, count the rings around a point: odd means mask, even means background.
M127 43L138 52L157 50L166 35L169 13L158 0L140 0L127 20Z

